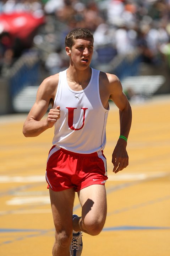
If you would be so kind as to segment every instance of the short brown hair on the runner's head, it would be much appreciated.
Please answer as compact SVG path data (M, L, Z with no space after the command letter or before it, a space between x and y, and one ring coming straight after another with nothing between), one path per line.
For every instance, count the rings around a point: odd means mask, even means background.
M74 45L74 40L79 38L93 39L93 34L86 28L75 28L68 32L65 39L65 46L71 48Z

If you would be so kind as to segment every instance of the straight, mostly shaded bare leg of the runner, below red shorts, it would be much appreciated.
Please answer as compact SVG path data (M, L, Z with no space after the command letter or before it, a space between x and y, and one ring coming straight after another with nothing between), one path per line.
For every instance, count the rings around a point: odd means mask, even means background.
M75 192L73 188L55 192L49 189L51 209L55 225L53 256L70 256L72 240L72 213Z

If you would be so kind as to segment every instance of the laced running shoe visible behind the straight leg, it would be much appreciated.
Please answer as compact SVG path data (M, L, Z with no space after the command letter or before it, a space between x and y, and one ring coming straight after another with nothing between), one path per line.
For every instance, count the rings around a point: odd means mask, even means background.
M73 215L73 219L78 217L77 215ZM72 242L70 245L70 255L71 256L80 256L83 250L83 242L82 242L82 232L73 233Z

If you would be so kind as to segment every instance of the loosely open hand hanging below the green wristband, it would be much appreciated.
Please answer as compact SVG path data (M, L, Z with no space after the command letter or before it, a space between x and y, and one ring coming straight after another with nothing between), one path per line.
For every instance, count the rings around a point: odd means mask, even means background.
M112 163L114 165L113 172L116 174L126 168L128 166L128 159L126 142L119 140L112 154Z

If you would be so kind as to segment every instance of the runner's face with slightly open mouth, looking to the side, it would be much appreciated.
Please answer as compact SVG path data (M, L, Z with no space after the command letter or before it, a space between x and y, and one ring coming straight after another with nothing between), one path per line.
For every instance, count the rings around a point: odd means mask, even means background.
M66 52L70 56L71 64L79 68L87 68L92 60L93 40L75 39L75 44L71 48L66 47Z

